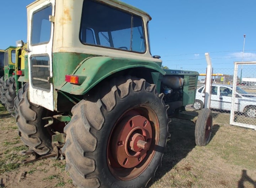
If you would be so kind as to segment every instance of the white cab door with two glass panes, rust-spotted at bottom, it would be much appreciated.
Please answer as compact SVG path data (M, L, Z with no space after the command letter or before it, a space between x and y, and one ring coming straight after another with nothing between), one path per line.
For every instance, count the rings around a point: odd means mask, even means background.
M52 47L55 0L47 0L31 8L28 61L29 61L29 99L31 102L49 110L53 105L53 66Z

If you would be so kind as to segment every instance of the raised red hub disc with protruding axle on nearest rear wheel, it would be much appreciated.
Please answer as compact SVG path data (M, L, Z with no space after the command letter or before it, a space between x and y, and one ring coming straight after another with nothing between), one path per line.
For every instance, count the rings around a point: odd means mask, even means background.
M151 124L144 116L130 116L119 124L114 136L111 145L114 161L110 162L133 168L147 156L152 141Z

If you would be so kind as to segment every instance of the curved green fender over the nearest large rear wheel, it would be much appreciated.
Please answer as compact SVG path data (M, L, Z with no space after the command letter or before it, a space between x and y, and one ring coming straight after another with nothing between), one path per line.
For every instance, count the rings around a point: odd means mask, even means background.
M90 57L79 63L72 73L79 76L79 84L66 82L59 90L73 95L84 95L103 79L130 68L147 68L150 72L165 75L159 62L104 56Z

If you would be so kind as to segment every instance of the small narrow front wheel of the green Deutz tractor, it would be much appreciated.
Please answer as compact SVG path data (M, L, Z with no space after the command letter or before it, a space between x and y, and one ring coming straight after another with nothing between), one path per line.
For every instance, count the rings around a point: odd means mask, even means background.
M197 118L195 127L195 141L198 146L205 146L210 142L213 127L212 111L203 108Z

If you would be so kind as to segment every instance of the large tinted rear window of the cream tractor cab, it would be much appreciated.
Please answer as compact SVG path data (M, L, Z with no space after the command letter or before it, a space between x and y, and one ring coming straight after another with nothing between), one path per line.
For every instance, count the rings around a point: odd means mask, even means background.
M92 0L84 1L79 37L83 44L146 51L141 17Z

